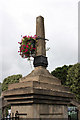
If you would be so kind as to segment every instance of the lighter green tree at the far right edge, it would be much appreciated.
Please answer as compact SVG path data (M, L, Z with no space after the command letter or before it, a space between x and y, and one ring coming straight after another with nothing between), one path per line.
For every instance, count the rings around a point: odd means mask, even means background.
M80 63L73 65L68 70L66 85L76 95L76 99L80 101Z

